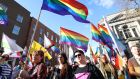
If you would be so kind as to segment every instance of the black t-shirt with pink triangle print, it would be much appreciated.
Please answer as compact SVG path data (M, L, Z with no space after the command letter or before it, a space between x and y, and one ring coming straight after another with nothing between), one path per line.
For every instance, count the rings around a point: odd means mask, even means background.
M85 67L74 69L74 79L104 79L104 77L96 66L87 64Z

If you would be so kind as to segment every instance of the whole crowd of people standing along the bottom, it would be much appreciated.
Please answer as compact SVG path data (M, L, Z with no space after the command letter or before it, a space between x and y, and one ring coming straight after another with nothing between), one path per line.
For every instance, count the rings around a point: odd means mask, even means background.
M8 62L9 55L0 52L0 79L140 79L140 45L130 49L133 57L123 56L123 66L119 70L106 55L101 55L98 63L87 61L82 50L74 52L73 64L69 64L65 53L58 54L55 66L44 63L43 51L34 51L32 68L22 59L12 67Z

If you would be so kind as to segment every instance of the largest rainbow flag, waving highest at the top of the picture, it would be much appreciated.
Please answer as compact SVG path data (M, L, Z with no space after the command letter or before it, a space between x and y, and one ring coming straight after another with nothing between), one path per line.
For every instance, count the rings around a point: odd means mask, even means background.
M76 0L43 0L41 9L59 15L72 15L79 22L90 23L86 20L87 7Z

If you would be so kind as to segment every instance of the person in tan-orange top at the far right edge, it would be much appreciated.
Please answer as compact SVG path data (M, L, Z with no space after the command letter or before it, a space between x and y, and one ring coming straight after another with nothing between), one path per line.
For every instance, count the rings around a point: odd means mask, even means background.
M140 44L132 45L130 49L133 57L128 60L129 73L133 79L134 76L140 79Z

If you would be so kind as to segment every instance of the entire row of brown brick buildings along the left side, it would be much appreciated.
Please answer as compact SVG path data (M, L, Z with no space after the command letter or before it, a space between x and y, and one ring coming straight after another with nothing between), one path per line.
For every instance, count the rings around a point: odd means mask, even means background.
M8 25L0 25L0 43L2 39L2 34L5 33L8 37L15 40L15 42L22 47L29 48L31 45L32 35L35 32L33 40L37 41L41 45L44 44L44 34L55 43L55 46L58 47L61 52L66 53L67 57L69 56L69 46L68 45L59 45L59 35L49 29L47 26L38 22L37 30L36 19L30 16L30 12L18 4L15 0L0 0L0 7L2 7L8 15ZM76 48L72 47L74 50ZM56 64L57 58L56 53L51 49L48 49L49 53L52 56L52 64Z

